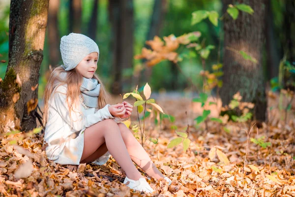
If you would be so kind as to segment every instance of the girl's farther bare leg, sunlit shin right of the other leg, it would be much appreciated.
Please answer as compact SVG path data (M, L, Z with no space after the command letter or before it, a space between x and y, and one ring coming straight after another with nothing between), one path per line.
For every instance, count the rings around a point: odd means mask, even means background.
M119 123L118 126L127 147L128 153L133 162L140 166L140 168L142 168L148 174L148 176L153 177L157 180L164 178L163 174L158 170L155 164L152 163L148 156L148 153L133 136L131 131L123 123Z

